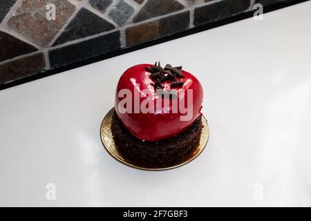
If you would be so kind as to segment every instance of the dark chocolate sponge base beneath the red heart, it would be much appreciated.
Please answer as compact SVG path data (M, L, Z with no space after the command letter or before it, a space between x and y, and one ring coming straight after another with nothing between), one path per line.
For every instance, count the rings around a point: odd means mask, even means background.
M117 150L126 160L137 166L160 168L182 162L193 153L200 142L201 117L182 133L158 142L142 142L133 136L113 113L111 131Z

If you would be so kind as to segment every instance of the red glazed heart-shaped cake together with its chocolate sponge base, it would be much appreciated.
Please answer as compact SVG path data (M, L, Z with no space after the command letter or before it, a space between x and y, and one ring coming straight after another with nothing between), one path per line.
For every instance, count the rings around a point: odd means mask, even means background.
M149 166L182 157L200 139L202 99L200 82L182 66L129 68L115 93L115 144Z

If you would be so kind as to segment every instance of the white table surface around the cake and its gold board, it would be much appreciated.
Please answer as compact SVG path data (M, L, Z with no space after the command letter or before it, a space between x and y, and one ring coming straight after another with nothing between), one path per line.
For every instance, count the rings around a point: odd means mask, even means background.
M310 12L309 1L1 90L0 206L311 206ZM205 89L207 148L171 171L124 166L100 141L120 75L154 61Z

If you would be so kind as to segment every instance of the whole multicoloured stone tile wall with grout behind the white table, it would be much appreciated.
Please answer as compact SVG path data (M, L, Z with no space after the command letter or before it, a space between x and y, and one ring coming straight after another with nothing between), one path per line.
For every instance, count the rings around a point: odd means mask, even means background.
M0 86L288 0L1 0Z

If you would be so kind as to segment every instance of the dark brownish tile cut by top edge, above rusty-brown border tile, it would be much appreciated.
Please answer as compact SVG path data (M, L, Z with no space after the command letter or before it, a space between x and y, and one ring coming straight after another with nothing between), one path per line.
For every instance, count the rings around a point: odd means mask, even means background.
M176 0L148 0L147 3L142 7L140 12L135 15L133 21L139 22L159 15L165 15L171 12L182 10L185 6Z

